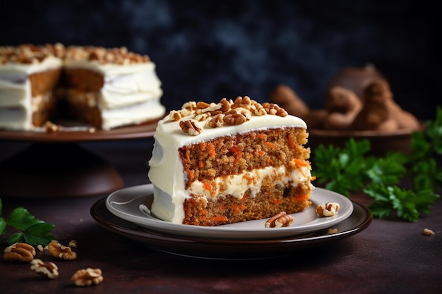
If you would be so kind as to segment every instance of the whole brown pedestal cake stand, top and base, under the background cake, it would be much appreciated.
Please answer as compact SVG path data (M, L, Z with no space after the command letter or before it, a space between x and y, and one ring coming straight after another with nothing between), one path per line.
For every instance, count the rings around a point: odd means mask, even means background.
M0 131L0 140L31 143L0 162L1 195L76 197L118 190L123 187L123 180L117 170L78 143L152 137L156 126L157 121L95 133Z

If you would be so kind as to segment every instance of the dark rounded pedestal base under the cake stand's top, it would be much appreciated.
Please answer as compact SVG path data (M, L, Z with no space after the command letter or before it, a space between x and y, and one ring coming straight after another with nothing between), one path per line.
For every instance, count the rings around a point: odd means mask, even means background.
M122 187L111 164L73 142L33 143L0 164L0 190L6 196L74 197Z

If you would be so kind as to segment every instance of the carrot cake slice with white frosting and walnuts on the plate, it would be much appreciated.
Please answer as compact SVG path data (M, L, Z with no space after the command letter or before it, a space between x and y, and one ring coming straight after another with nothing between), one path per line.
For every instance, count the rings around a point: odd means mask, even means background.
M311 205L306 123L277 104L187 102L154 137L148 177L160 219L217 226Z

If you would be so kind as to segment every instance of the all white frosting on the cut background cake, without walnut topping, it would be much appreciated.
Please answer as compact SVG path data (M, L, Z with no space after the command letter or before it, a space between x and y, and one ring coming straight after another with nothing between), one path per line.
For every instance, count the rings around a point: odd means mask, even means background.
M0 66L0 128L30 130L32 125L32 99L28 75L60 68L61 60L54 57L42 63L23 65L6 63ZM90 100L102 113L102 128L109 130L121 125L138 124L164 116L165 107L160 104L162 89L155 73L155 63L130 65L100 64L86 61L65 61L65 68L88 68L104 75L104 86L98 97ZM69 94L69 99L88 99Z

